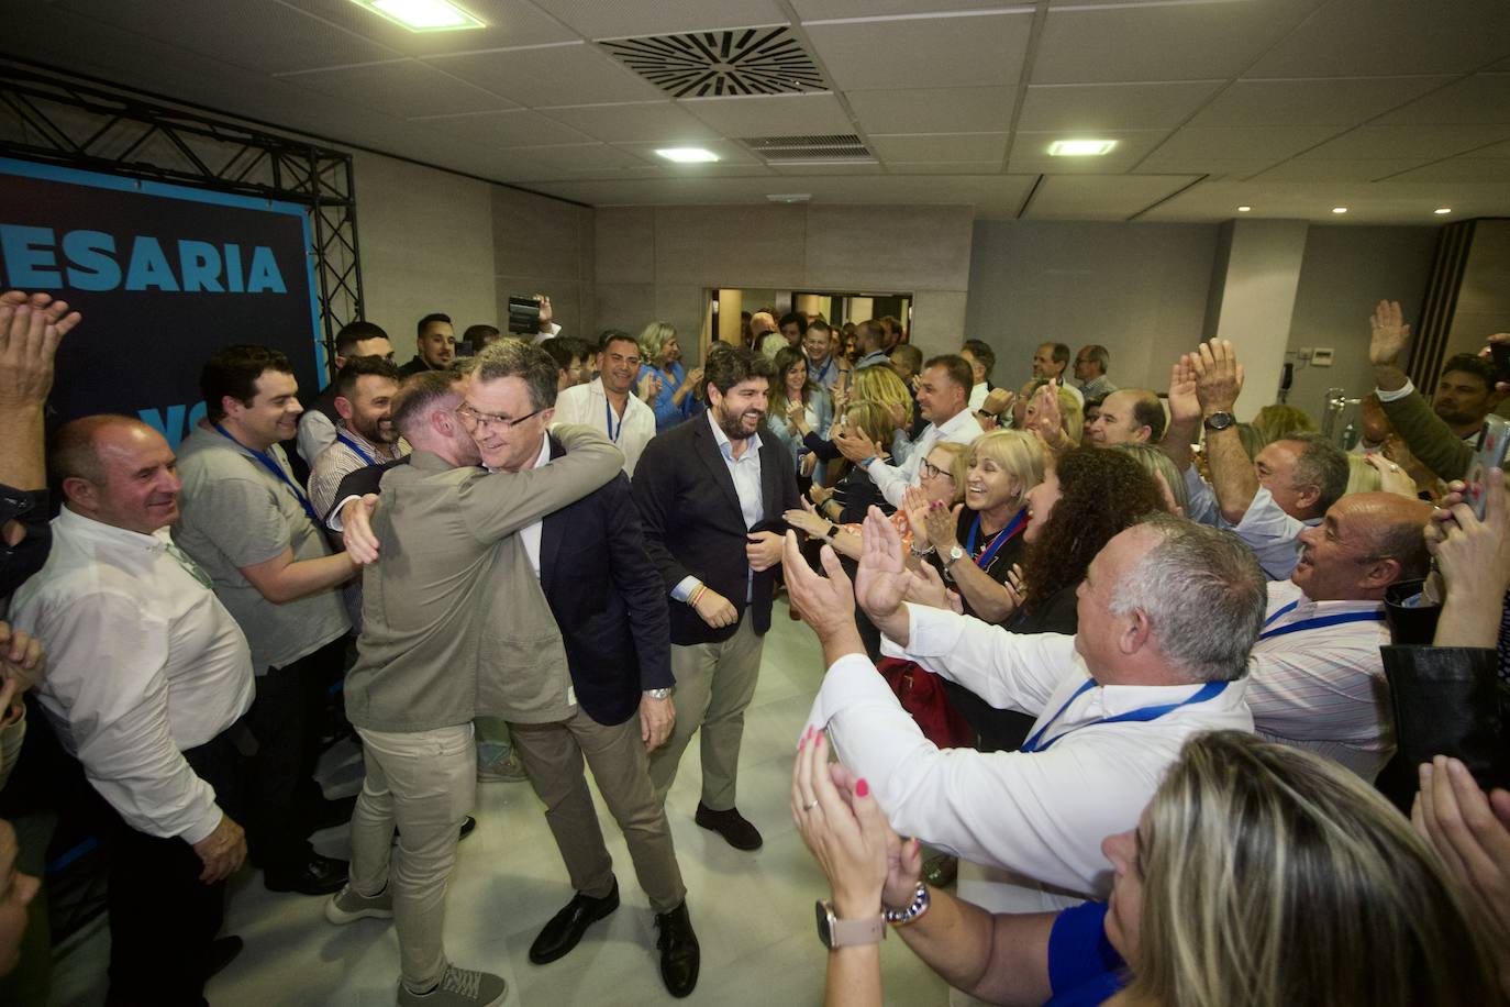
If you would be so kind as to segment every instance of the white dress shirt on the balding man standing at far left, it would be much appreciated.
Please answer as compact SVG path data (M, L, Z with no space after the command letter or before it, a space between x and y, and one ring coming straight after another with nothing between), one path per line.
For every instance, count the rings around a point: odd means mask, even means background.
M246 637L193 569L166 528L139 534L63 507L47 566L12 610L47 648L36 698L94 788L137 832L190 844L220 809L183 752L230 728L255 691Z

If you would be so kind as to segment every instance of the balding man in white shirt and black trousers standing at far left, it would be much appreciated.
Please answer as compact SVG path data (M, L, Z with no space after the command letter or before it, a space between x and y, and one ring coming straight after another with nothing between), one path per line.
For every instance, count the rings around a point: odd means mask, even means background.
M115 811L109 1001L201 1004L246 858L231 725L252 705L252 652L168 536L180 483L160 433L86 417L48 454L65 503L12 616L47 646L42 710Z

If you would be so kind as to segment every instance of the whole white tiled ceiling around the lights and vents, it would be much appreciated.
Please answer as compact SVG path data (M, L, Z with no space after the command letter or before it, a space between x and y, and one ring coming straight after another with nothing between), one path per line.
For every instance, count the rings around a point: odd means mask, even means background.
M3 53L592 205L1510 216L1505 0L462 0L488 27L447 35L350 0L5 6ZM790 26L832 91L673 100L599 44L757 26ZM874 160L738 142L837 133ZM1074 136L1117 146L1048 157ZM669 165L667 143L722 160Z

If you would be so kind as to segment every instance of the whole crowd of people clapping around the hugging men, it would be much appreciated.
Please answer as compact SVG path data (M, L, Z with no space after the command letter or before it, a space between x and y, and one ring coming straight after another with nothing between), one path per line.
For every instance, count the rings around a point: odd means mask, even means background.
M829 1004L882 1002L888 930L989 1002L1510 998L1487 347L1428 400L1382 302L1351 445L1240 423L1220 340L1167 390L1063 343L997 386L988 341L926 358L897 319L757 311L689 368L664 322L589 343L539 303L522 338L427 314L403 365L353 322L317 396L216 349L169 445L121 415L44 439L82 319L0 296L0 999L45 990L48 836L11 797L74 794L59 767L109 839L112 1004L205 1002L248 862L334 925L393 919L399 1004L503 1002L444 939L477 784L544 806L574 891L545 966L619 906L587 770L687 996L669 815L761 848L738 768L781 592L823 649L791 812ZM347 732L361 793L329 800ZM695 738L701 797L667 808ZM316 853L347 820L350 861Z

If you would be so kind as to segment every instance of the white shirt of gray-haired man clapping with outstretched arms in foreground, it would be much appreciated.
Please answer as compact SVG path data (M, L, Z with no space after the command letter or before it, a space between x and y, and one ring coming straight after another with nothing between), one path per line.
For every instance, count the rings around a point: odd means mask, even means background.
M864 655L834 663L808 723L827 728L834 750L865 778L897 832L1015 874L1021 912L1105 897L1111 868L1101 841L1137 824L1185 740L1200 731L1252 731L1246 682L1148 722L1101 723L1145 707L1178 704L1191 685L1098 685L1075 637L1010 634L953 611L908 605L906 651L882 649L950 678L1001 710L1037 716L1055 738L1037 752L938 749L923 737ZM1068 707L1066 707L1068 704Z

